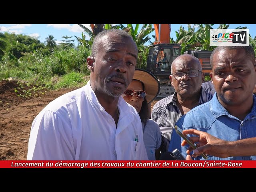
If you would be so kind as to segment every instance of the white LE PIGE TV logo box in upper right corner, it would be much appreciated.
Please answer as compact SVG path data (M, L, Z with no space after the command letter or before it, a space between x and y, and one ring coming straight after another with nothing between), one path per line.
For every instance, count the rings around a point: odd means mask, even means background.
M210 29L210 46L249 46L249 29Z

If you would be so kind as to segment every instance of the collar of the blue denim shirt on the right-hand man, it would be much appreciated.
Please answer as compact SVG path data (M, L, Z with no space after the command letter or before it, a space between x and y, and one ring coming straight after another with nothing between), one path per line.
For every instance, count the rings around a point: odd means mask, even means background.
M252 110L250 111L249 114L247 114L245 119L252 119L256 117L256 97L253 98L253 104L252 104ZM212 100L210 100L210 111L214 115L215 118L218 118L219 116L222 115L227 115L230 116L231 118L236 118L228 113L228 111L220 104L217 93L215 92Z

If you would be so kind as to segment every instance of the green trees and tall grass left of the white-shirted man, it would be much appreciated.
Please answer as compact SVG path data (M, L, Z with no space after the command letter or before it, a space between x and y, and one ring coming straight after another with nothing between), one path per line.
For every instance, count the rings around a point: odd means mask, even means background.
M84 46L58 46L52 35L46 38L45 44L24 35L4 33L1 37L5 46L2 46L4 54L0 60L0 80L12 77L40 87L57 89L74 86L74 81L82 83L83 80L73 78L74 74L80 78L90 74L86 66L90 50ZM65 82L68 74L72 77L70 85Z

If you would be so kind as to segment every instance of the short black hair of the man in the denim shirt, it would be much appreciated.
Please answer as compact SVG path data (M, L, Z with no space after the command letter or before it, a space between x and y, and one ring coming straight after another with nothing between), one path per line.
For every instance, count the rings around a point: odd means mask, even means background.
M248 58L250 60L253 61L253 64L255 62L255 52L254 52L254 49L252 48L252 46L217 46L213 51L212 51L212 54L210 56L210 64L211 64L211 67L213 67L213 63L212 63L212 60L213 60L213 56L216 52L220 52L220 51L223 51L223 50L233 50L233 49L244 49L245 53L246 53L246 56L248 56Z

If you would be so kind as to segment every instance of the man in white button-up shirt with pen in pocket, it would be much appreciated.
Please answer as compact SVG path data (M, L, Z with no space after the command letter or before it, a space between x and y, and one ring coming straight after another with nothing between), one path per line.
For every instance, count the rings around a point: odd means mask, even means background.
M87 58L90 81L36 116L27 160L148 160L138 112L121 97L137 57L127 32L100 32Z

